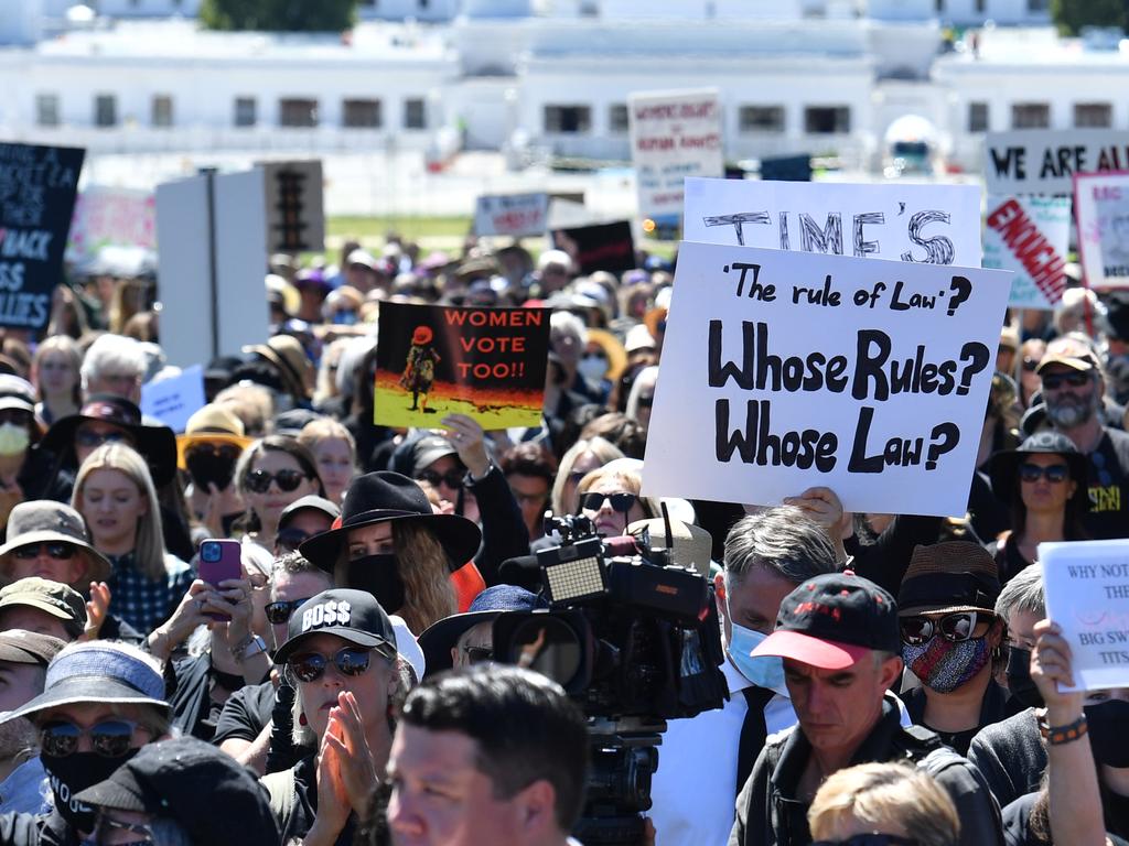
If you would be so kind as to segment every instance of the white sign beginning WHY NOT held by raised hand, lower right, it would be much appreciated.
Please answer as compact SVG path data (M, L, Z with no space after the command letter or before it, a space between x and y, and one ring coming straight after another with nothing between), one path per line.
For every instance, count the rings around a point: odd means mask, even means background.
M1129 687L1129 540L1040 544L1047 616L1070 644L1075 687Z

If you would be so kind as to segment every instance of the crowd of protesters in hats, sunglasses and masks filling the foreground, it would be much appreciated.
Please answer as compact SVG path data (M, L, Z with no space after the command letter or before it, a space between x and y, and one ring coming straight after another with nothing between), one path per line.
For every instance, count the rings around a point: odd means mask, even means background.
M60 285L45 336L5 333L0 846L576 844L585 719L492 644L546 607L506 565L558 545L546 511L606 537L669 514L717 605L728 699L671 721L648 840L1129 838L1129 687L1061 691L1039 562L1129 537L1129 299L1009 317L968 513L943 520L826 487L644 496L659 258L581 275L390 237L270 271L271 336L207 363L181 434L139 408L178 372L154 280ZM386 301L552 309L542 424L374 424ZM204 539L238 541L238 578L200 578Z

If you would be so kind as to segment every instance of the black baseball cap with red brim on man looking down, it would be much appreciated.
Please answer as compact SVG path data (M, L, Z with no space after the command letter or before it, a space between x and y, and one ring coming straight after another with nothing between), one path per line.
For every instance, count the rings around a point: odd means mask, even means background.
M848 570L817 575L785 597L776 631L752 654L844 670L875 650L901 651L898 603L877 584Z

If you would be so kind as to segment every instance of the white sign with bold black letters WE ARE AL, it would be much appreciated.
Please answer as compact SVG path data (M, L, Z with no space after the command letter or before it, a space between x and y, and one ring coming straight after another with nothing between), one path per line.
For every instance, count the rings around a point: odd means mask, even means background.
M1129 169L1129 132L1120 130L1015 130L984 139L989 194L1060 194L1075 174Z

